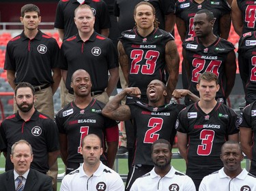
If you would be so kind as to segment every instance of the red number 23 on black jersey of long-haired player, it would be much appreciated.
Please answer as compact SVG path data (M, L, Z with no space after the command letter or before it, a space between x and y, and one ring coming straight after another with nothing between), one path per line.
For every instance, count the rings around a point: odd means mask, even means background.
M145 65L139 65L139 62L143 59L144 50L132 50L130 52L130 58L132 63L130 66L130 74L138 74L141 69L141 73L150 75L155 72L156 60L158 59L159 52L154 50L148 50L145 54Z

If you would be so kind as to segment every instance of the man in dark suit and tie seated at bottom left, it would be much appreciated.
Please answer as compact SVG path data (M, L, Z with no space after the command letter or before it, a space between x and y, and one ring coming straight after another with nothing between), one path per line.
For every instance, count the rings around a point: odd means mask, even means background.
M11 160L14 170L0 175L1 191L9 190L53 190L51 177L30 169L33 161L31 145L21 139L12 145Z

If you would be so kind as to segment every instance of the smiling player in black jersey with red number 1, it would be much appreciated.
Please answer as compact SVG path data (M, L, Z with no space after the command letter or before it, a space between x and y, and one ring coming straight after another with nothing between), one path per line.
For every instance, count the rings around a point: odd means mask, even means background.
M112 168L118 147L117 122L102 116L104 103L91 95L91 77L83 69L76 70L71 77L74 101L68 103L55 116L59 128L61 158L66 164L66 174L83 163L80 154L83 137L94 133L102 141L103 153L100 160ZM107 147L107 150L106 150Z

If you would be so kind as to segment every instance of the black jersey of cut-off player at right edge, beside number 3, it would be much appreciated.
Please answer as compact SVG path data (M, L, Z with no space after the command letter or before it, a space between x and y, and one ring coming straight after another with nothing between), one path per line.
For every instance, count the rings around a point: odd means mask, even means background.
M240 116L240 126L251 128L253 132L253 143L251 147L251 153L252 153L252 160L251 160L251 168L250 173L253 175L256 175L256 102L254 101L250 105L247 105L244 107L244 111L242 111L242 114Z

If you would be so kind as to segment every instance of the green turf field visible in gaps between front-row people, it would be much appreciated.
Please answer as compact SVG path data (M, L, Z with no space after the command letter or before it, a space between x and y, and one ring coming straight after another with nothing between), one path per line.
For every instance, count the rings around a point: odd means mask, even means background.
M173 153L177 153L177 149L173 149ZM119 159L118 160L118 166L119 166L119 174L127 174L128 173L128 167L127 167L127 159ZM61 158L58 158L58 165L59 165L59 173L63 173L64 172L64 164L61 160ZM183 159L172 159L171 160L171 165L173 167L175 167L175 169L177 169L178 171L181 171L183 173L185 173L186 171L186 164L185 161ZM0 173L4 172L4 166L5 166L5 158L3 156L3 154L1 154L0 156ZM242 161L242 168L246 167L246 160ZM59 190L60 187L60 183L58 183L58 189Z

